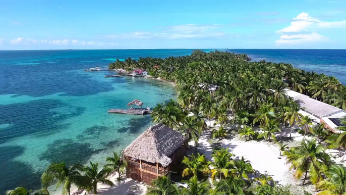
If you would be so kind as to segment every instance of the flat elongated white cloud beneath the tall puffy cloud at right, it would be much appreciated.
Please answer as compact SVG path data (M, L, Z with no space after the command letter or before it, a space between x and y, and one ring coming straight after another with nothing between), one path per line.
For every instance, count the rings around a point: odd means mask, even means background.
M327 40L327 37L320 35L316 32L311 34L293 34L280 36L280 39L276 40L278 44L294 44L294 43L304 43L304 42L317 42Z

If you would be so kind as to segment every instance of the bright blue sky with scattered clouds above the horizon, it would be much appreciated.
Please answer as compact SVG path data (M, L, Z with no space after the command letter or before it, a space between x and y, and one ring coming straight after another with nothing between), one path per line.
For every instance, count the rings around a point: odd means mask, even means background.
M346 48L346 1L0 0L0 50Z

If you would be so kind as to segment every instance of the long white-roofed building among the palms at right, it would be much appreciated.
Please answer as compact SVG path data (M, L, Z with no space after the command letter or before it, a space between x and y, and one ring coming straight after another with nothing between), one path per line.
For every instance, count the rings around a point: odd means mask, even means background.
M325 128L335 131L336 127L343 126L340 119L346 116L346 111L310 98L308 95L286 89L286 95L292 97L302 108L299 112L309 116L313 124L324 123Z

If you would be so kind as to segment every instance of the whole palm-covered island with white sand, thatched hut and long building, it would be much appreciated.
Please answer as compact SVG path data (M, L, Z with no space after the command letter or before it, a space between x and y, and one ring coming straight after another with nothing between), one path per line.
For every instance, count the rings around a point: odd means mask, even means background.
M346 193L346 87L335 77L198 50L117 60L109 69L143 69L174 82L178 100L158 104L151 114L157 124L104 167L51 163L35 194L49 194L51 185L62 186L63 195ZM135 171L148 184L128 185ZM155 177L143 180L149 173ZM124 186L133 190L118 190Z

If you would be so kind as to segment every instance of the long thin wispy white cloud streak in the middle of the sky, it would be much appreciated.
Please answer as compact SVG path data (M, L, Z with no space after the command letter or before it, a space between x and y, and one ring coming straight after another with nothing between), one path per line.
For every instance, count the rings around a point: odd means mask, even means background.
M107 38L118 39L149 39L149 38L164 38L164 39L184 39L184 38L220 38L224 37L225 33L221 29L222 25L217 24L184 24L167 26L154 29L150 32L129 32L107 35Z

